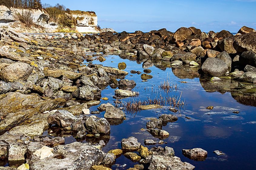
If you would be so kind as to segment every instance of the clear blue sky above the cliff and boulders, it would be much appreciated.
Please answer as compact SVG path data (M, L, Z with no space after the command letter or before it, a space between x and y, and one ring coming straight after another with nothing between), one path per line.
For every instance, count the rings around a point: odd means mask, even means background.
M180 27L204 32L229 30L238 32L246 25L256 29L256 0L41 0L63 4L71 10L95 11L101 28L121 32L148 32Z

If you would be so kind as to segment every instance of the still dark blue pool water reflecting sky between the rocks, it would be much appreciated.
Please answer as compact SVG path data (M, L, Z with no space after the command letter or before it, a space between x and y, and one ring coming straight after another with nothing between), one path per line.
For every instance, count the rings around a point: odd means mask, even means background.
M129 57L128 57L129 58ZM159 93L162 96L167 94L159 91L158 85L167 78L173 84L177 83L178 90L168 93L169 96L180 95L181 100L185 100L185 106L180 112L173 113L168 110L168 106L162 109L140 111L137 114L126 112L126 120L123 122L111 122L110 136L103 136L98 140L104 140L106 146L103 151L111 149L121 149L121 140L134 136L145 146L144 139L153 139L158 142L160 139L153 137L146 129L148 117L158 118L161 114L175 114L178 121L168 123L163 127L170 136L163 139L167 144L156 144L154 146L169 146L175 151L175 156L181 158L183 162L189 162L197 170L203 169L255 169L256 152L256 87L236 81L236 79L223 79L219 83L211 83L209 77L200 77L199 67L179 66L171 68L169 63L153 63L150 75L152 79L142 82L141 75L131 74L131 70L143 72L143 61L136 58L124 57L121 55L109 55L103 63L95 60L93 64L103 66L118 67L118 63L125 62L125 71L129 72L125 79L134 80L137 85L133 91L138 91L140 95L135 98L126 98L122 101L146 100L148 97L155 98ZM86 62L85 62L86 63ZM131 76L132 75L132 76ZM119 80L119 79L118 79ZM185 81L187 83L181 83ZM109 98L108 101L101 100L102 103L110 102L114 104L114 90L110 86L101 92L102 97ZM213 106L213 110L206 107ZM90 107L90 111L96 111L98 106ZM239 111L238 114L233 113ZM105 112L101 112L98 117L104 117ZM187 119L185 117L189 117ZM83 142L97 142L93 138L85 139ZM75 141L72 136L66 137L66 143ZM147 146L149 149L153 145ZM206 160L197 162L182 155L182 149L202 148L208 151ZM224 156L217 156L214 150L225 153ZM138 162L132 162L125 156L116 159L115 164L127 164L125 168L113 165L112 169L128 169Z

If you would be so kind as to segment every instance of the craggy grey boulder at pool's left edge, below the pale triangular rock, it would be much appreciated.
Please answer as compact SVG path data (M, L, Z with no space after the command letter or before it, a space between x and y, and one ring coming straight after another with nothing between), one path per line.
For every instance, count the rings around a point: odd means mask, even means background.
M108 120L105 118L99 118L95 115L90 116L88 119L85 120L86 128L91 133L104 133L109 134L110 133L110 124L108 123Z

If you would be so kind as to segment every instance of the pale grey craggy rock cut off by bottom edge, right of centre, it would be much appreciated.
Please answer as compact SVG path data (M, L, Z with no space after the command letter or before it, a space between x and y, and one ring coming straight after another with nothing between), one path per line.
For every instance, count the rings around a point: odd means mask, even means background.
M195 167L188 162L182 162L177 156L159 156L153 155L150 159L149 170L193 170Z

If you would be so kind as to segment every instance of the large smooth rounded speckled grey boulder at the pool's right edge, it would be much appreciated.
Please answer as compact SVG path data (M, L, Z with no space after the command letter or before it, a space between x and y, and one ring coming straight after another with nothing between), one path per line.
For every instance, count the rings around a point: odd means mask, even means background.
M218 58L207 58L201 66L202 71L214 77L224 75L228 70L228 65Z

